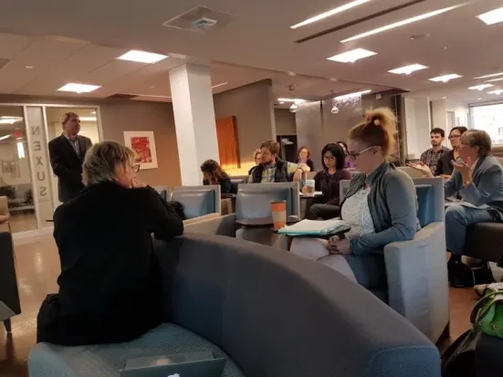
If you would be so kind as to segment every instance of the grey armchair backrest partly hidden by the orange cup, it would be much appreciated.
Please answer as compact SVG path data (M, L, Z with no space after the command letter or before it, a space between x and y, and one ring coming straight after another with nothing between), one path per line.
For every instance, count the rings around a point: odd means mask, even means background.
M299 183L239 184L236 195L236 218L271 216L271 202L287 201L287 215L300 215Z

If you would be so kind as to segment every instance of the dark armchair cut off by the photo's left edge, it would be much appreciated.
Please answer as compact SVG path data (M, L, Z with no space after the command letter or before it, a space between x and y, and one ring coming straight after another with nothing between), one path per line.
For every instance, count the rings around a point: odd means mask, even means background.
M20 313L12 235L0 232L0 321L4 322L7 333L11 332L10 319Z

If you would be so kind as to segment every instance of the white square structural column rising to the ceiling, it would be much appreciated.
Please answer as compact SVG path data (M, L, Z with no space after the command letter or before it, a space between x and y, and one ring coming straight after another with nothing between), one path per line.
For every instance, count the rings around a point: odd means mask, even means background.
M202 184L201 163L219 162L210 69L190 64L173 68L170 84L182 184Z

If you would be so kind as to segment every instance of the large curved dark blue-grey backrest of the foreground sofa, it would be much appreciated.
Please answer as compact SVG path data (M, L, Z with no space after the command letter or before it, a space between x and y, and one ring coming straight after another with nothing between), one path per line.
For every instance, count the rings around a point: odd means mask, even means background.
M247 377L440 376L433 343L320 263L224 236L155 250L166 320L223 348Z

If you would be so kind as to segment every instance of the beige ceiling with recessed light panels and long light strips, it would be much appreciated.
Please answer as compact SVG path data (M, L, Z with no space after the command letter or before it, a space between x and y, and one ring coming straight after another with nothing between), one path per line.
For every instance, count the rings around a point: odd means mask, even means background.
M296 87L299 98L327 97L330 91L374 91L400 88L427 90L445 84L428 79L446 73L476 76L503 71L500 57L503 23L486 26L477 15L500 7L500 0L469 1L439 16L342 44L344 38L411 16L418 16L461 0L426 0L384 16L347 26L337 32L294 43L330 27L370 16L410 0L372 0L309 26L290 29L303 19L350 0L280 2L267 0L88 0L72 3L50 0L4 0L0 14L0 92L51 95L64 83L77 81L102 88L80 97L108 97L116 93L168 96L167 70L185 62L211 67L212 84L227 82L215 93L272 79L276 97ZM231 23L213 33L162 26L162 23L205 5L230 13ZM29 12L26 11L29 9ZM413 35L429 35L411 40ZM352 64L326 58L362 47L378 55ZM129 49L170 55L154 65L116 60ZM420 63L428 69L410 76L387 73L392 68ZM0 65L2 63L0 62ZM33 68L26 68L33 67ZM288 74L290 72L290 74ZM290 76L295 74L296 76ZM470 86L470 85L466 85ZM70 94L71 96L71 94ZM140 96L138 99L169 100Z

